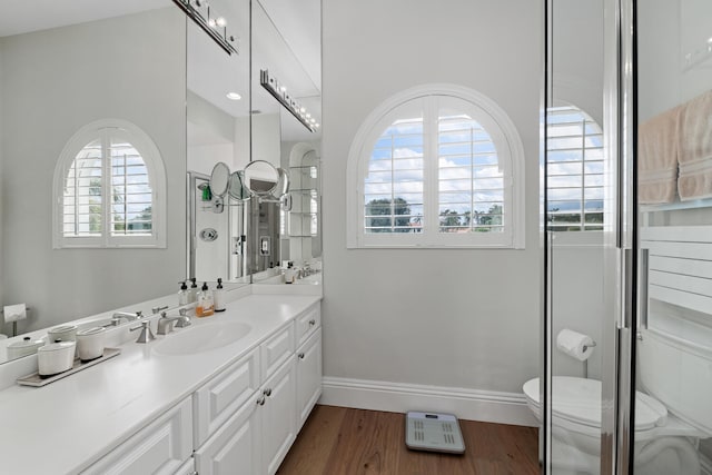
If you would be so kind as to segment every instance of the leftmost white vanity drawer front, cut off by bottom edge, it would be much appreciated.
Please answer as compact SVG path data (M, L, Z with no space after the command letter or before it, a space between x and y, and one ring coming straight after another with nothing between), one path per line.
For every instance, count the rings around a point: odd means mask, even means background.
M192 454L190 398L87 468L85 474L172 474Z

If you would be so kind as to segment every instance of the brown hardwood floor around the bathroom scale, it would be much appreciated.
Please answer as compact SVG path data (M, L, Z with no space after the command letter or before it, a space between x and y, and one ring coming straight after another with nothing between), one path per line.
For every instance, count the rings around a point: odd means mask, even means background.
M461 420L464 455L409 451L405 415L317 405L280 475L538 474L534 427Z

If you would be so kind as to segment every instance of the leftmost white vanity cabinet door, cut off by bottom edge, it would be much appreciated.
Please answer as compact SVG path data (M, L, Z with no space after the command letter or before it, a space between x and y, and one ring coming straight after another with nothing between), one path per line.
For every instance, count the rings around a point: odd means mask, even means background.
M230 417L195 453L200 475L258 475L264 472L260 452L261 416L257 395Z

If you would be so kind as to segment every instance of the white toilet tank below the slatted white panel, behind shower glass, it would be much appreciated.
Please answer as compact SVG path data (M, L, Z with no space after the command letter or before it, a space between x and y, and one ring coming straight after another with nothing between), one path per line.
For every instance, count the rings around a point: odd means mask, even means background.
M712 436L712 348L655 329L641 335L637 370L643 389Z

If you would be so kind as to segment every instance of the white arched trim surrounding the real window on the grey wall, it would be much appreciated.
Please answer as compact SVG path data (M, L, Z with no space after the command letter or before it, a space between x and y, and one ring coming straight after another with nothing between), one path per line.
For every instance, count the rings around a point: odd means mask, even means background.
M511 232L505 244L502 243L502 236L494 232L478 235L477 243L473 244L472 240L464 241L462 236L445 236L445 234L437 239L425 240L423 236L416 234L379 234L374 236L364 231L364 176L368 169L373 144L382 132L382 130L376 130L376 126L398 106L426 96L451 96L466 100L482 109L495 125L495 127L487 128L487 125L483 123L487 132L493 136L495 144L503 144L507 148L510 164L503 165L508 168L510 178L514 178L514 182L511 179L505 182L505 190L508 188L511 192L510 202L512 206L511 212L505 215L505 219L511 219L507 222ZM481 118L478 117L476 120L479 121ZM501 137L495 138L494 136L497 135ZM382 102L366 117L352 142L346 166L346 247L348 249L414 247L524 249L524 147L516 127L506 112L488 97L473 89L449 83L422 85L398 92ZM437 185L431 184L428 186L436 187ZM461 239L457 239L458 237Z

